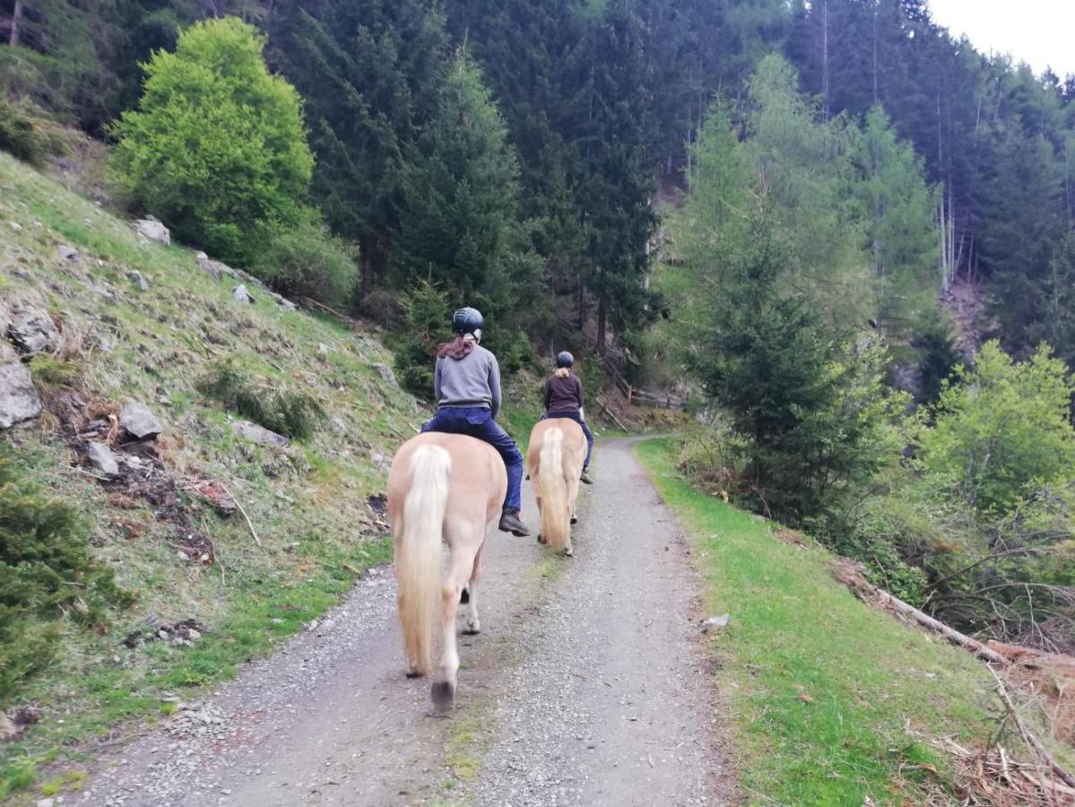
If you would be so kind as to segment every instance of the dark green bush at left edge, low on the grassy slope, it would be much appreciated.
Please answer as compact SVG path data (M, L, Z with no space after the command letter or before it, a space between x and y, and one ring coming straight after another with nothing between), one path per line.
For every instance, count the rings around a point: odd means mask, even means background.
M100 624L108 606L132 601L90 558L77 511L22 467L0 445L0 706L48 667L61 620Z

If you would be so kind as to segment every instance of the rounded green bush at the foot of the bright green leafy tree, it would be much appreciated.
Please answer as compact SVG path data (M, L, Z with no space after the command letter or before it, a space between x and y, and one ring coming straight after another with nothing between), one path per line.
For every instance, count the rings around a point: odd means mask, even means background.
M254 271L289 297L346 305L358 286L356 250L324 227L280 230L258 254Z

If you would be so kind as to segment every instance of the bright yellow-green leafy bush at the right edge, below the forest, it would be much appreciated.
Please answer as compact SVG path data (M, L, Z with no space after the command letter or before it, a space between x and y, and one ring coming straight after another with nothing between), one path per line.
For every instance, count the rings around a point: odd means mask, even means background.
M1075 476L1075 393L1067 369L1043 346L1016 362L995 342L973 372L941 393L936 422L918 436L921 466L940 494L1006 514L1037 488Z

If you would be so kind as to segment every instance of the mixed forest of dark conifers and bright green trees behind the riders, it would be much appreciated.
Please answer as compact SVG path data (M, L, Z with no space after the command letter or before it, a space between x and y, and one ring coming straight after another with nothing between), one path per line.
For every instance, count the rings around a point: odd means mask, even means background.
M689 390L682 470L1075 651L1075 76L926 0L2 0L0 147L392 332ZM602 359L603 357L603 359Z

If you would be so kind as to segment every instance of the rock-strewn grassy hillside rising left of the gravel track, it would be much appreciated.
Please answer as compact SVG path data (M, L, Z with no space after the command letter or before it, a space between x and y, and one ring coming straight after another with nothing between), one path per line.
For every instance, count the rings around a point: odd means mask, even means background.
M135 596L96 631L59 620L60 651L10 704L38 720L0 744L0 797L40 792L25 789L48 762L76 761L111 726L159 716L163 697L268 652L390 556L369 498L421 413L377 366L389 359L374 338L248 283L255 302L241 302L238 285L0 154L0 320L32 306L61 332L58 349L30 363L45 414L0 441L20 474L77 506L92 554ZM206 384L226 368L228 389L214 397ZM247 417L291 402L282 422L297 418L312 435L286 448L252 442L234 428L236 398ZM112 435L110 416L129 401L163 431L140 470L96 478L89 439ZM194 640L176 643L189 635L181 622L196 626ZM154 639L162 626L168 639ZM128 647L132 634L146 640Z

